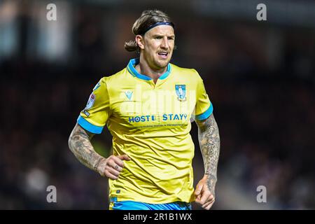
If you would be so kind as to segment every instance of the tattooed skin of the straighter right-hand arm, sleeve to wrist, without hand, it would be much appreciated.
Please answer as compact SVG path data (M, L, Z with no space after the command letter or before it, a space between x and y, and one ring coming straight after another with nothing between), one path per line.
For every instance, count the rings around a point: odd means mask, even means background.
M214 119L214 114L203 121L197 121L198 139L202 158L204 160L205 175L208 176L207 186L210 192L215 195L216 169L218 167L218 158L220 154L220 135L218 125Z

